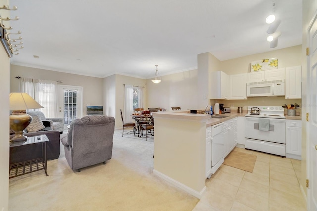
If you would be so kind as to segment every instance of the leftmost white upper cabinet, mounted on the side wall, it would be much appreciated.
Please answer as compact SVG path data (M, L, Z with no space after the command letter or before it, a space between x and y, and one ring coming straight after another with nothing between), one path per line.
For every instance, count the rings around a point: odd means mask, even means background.
M211 72L210 99L229 99L229 75L222 71Z

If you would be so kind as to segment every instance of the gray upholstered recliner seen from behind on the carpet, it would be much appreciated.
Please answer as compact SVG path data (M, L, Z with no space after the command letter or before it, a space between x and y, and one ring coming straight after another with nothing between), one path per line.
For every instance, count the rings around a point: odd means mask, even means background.
M71 122L68 133L61 136L66 160L73 170L112 158L115 120L109 116L85 116Z

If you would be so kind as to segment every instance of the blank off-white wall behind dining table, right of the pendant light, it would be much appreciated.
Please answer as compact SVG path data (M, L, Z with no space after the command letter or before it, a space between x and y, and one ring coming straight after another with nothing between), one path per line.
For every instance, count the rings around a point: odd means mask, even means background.
M182 110L197 109L197 70L162 76L162 81L155 84L146 81L146 109L180 106Z

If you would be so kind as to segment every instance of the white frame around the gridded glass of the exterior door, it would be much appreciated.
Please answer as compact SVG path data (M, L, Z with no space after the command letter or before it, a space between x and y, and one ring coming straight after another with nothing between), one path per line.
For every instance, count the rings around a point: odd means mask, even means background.
M62 85L62 84L57 85L57 107L58 107L57 113L59 114L58 117L61 115L60 113L63 113L63 116L61 118L64 118L64 106L59 105L59 102L60 102L59 92L61 90L64 90L64 89L75 89L81 93L80 98L78 98L78 96L77 96L77 105L78 105L78 108L80 108L80 109L77 109L77 118L82 118L83 117L83 109L84 109L84 107L83 107L83 105L84 105L84 87L73 86L73 85ZM64 97L64 96L62 96L62 97ZM63 100L63 102L64 102L64 100Z

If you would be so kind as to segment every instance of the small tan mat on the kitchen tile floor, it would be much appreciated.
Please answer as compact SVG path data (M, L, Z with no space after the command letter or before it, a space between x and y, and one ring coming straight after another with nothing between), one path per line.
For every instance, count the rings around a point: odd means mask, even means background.
M244 171L252 172L256 160L256 155L241 153L239 151L232 150L231 153L229 153L229 155L224 159L223 164Z

